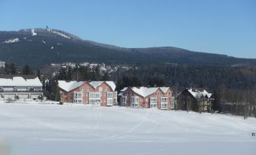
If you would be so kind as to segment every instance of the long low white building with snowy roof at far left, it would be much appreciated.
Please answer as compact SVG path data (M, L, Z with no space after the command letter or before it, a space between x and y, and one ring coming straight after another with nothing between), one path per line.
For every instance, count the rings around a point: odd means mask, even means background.
M33 75L0 75L1 99L37 99L42 95L42 83Z

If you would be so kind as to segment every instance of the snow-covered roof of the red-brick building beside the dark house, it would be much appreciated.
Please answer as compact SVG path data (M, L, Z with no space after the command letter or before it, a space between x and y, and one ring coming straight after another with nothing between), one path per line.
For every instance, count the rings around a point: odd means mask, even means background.
M132 87L131 90L134 91L134 93L137 93L140 96L146 97L150 96L153 93L156 93L156 90L158 90L159 87ZM161 88L160 88L161 89ZM168 87L162 87L161 89L164 93L168 90Z

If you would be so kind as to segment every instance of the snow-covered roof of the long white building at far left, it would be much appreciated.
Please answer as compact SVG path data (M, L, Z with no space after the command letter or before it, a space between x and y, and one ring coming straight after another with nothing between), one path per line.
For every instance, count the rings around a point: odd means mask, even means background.
M27 86L27 87L42 87L39 78L23 78L22 76L14 76L11 78L0 77L0 86Z

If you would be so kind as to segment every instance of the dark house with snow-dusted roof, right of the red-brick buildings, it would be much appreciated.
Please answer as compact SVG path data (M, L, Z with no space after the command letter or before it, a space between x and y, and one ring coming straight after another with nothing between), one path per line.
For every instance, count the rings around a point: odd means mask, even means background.
M177 109L211 111L212 94L204 89L185 89L177 96Z

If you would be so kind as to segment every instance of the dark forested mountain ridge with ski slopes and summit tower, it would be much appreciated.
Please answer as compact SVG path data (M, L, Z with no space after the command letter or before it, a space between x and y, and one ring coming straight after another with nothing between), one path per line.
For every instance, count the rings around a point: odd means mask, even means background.
M158 65L256 65L256 59L202 53L179 47L126 48L89 41L58 29L0 31L0 59L36 67L56 62Z

